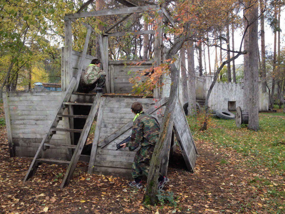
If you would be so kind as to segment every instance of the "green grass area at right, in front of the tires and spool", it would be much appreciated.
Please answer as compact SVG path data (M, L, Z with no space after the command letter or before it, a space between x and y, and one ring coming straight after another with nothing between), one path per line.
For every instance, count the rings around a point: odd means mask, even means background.
M200 131L199 120L194 117L187 117L187 119L194 140L213 144L217 148L235 150L245 157L244 159L241 157L241 160L252 169L255 166L261 166L262 169L268 169L271 175L285 174L285 114L260 113L260 130L257 132L248 130L246 125L237 128L235 120L218 118L211 119L208 130ZM227 163L225 159L220 161L220 164ZM243 167L243 165L237 167ZM285 206L281 199L285 197L285 191L281 184L262 176L248 177L248 183L261 192L266 190L262 196L267 204L265 210L269 213L285 213ZM251 203L254 203L254 200ZM250 209L251 203L240 204L240 211Z

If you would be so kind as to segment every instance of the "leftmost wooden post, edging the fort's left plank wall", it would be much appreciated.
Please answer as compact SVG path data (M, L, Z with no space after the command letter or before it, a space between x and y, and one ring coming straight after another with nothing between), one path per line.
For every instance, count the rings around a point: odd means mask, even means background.
M11 133L11 117L10 117L10 110L9 110L9 97L8 92L2 93L4 110L5 110L5 121L6 121L6 130L7 130L7 138L8 138L8 145L9 145L9 153L10 157L15 157L15 152L13 148L13 141L12 141L12 133Z

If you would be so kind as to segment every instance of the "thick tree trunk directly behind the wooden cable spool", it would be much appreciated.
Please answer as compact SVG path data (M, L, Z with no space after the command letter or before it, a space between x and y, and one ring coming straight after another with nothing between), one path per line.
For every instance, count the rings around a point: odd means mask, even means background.
M244 71L245 106L248 109L248 129L259 130L259 88L258 88L258 3L254 2L246 11L248 26L247 68ZM248 23L246 23L248 24Z

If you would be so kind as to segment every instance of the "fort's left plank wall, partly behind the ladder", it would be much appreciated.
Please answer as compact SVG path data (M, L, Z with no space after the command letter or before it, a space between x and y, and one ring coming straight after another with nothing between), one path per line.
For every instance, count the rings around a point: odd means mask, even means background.
M8 92L7 107L15 156L33 157L60 105L62 92ZM5 111L5 114L7 112ZM64 120L58 124L64 128ZM65 133L57 132L50 142L65 144ZM66 149L50 148L46 157L66 159Z

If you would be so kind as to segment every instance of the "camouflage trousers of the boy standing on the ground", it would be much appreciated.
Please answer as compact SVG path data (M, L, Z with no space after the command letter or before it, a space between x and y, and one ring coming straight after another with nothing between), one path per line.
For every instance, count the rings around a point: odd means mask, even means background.
M151 162L151 156L154 150L153 145L141 146L134 157L134 163L132 166L132 177L142 177L145 175L148 177L149 164Z

